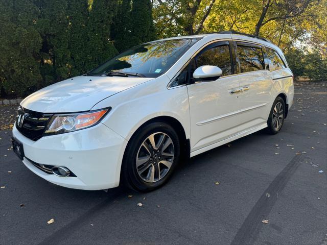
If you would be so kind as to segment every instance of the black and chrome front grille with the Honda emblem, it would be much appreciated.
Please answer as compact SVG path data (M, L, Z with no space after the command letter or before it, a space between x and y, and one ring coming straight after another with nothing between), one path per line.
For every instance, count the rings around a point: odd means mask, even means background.
M42 137L45 127L53 114L43 114L25 108L23 110L24 114L18 115L16 118L16 128L22 135L36 141ZM22 115L24 115L24 119L21 120L20 118L20 125L18 123L19 116Z

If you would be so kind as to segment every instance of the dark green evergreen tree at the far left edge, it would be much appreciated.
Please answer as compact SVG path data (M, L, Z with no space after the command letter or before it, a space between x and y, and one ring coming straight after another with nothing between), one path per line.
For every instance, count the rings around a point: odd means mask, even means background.
M0 1L0 80L6 94L24 96L41 81L38 9L28 0Z

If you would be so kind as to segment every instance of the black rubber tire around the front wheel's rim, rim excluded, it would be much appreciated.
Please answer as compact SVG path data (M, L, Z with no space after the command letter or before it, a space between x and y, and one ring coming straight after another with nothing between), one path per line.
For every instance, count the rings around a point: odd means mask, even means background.
M136 155L139 149L139 146L144 142L144 140L149 137L149 135L162 132L169 135L174 143L174 160L171 168L169 169L166 176L154 183L148 183L139 177L136 169ZM140 128L131 138L130 142L127 145L124 159L123 159L123 175L125 176L125 181L128 182L129 187L132 187L136 190L141 191L150 191L156 189L167 182L167 180L171 177L180 156L180 142L177 133L175 130L165 122L152 122L142 128Z

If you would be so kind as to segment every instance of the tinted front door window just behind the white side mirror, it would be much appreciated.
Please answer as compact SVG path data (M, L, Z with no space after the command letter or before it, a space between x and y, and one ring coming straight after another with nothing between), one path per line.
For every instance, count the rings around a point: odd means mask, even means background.
M196 62L197 67L202 65L218 66L223 71L222 76L232 74L229 45L220 45L209 48L197 56Z

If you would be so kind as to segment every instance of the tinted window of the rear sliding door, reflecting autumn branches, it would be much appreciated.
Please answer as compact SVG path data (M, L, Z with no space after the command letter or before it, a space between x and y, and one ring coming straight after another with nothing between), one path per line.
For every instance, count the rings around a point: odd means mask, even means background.
M237 45L241 72L264 69L264 57L260 46Z

